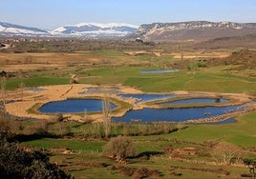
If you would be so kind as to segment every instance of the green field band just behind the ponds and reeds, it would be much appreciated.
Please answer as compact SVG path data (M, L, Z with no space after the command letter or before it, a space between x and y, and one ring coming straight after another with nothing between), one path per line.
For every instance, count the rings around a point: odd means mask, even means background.
M155 68L158 70L158 68ZM79 82L84 84L121 84L132 86L145 92L168 92L174 90L252 93L256 89L256 79L225 73L199 70L196 72L181 70L171 73L142 74L139 70L152 68L96 68L79 71ZM20 79L10 79L7 89L19 87ZM23 79L25 87L69 84L69 76L41 76Z

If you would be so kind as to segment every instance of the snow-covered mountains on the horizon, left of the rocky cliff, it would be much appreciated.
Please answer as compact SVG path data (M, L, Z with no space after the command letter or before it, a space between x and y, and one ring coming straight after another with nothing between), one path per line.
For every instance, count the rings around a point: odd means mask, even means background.
M40 30L0 22L0 36L121 37L134 32L138 28L139 26L124 23L80 23L54 30Z

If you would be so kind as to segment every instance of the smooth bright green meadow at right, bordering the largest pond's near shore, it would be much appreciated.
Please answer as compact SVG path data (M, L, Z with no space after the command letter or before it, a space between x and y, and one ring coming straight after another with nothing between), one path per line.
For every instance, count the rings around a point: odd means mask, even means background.
M256 112L239 116L237 122L232 124L191 125L187 129L171 134L134 138L137 140L178 139L197 143L223 141L244 148L253 148L256 146Z

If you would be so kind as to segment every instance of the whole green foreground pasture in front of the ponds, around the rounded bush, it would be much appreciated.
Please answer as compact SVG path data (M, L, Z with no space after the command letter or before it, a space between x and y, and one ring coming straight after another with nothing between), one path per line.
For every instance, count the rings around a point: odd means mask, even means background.
M191 125L187 129L181 129L177 132L162 135L137 136L130 137L137 149L138 154L150 154L150 159L134 158L128 159L125 167L132 169L147 168L156 170L161 174L161 178L240 178L241 173L247 173L248 169L225 165L212 165L204 163L191 163L188 161L179 161L170 158L166 147L172 148L196 148L200 152L209 153L207 148L200 144L209 141L227 142L236 146L246 148L255 147L255 127L256 112L240 116L237 123L227 125ZM83 132L78 129L78 132ZM191 143L175 143L175 141L188 141ZM115 169L117 162L108 159L102 155L102 147L107 141L102 139L55 139L41 138L35 139L23 144L41 148L55 149L68 148L75 151L74 154L64 155L61 153L53 153L51 159L57 161L59 165L64 167L75 176L75 178L134 178L121 174L121 171ZM247 155L246 155L247 156ZM251 157L255 155L250 154ZM209 155L205 156L187 156L201 161L213 161ZM196 158L195 158L196 157ZM99 167L90 167L90 165L100 165ZM104 166L104 167L103 167ZM207 171L208 170L208 171ZM223 171L228 171L228 175L224 175ZM181 176L175 176L181 173ZM150 178L150 177L149 177Z

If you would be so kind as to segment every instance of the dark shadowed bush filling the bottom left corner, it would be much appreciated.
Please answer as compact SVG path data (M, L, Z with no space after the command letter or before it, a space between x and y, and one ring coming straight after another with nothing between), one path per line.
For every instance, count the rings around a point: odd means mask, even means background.
M0 178L71 178L39 150L21 147L0 133Z

